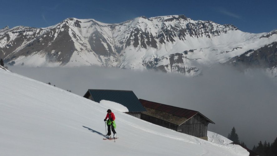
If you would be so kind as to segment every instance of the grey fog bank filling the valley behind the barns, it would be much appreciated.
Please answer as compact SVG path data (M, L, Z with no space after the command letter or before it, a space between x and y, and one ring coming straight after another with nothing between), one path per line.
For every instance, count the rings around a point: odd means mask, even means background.
M186 77L156 71L90 67L9 66L10 71L83 96L88 89L133 90L139 99L196 110L216 124L208 130L225 137L233 127L249 149L277 137L276 78L261 70L229 66L202 68ZM120 126L120 125L118 125Z

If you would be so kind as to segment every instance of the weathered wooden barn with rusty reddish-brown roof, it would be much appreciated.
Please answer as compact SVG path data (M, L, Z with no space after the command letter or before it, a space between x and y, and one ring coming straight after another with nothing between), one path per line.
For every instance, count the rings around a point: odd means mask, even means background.
M181 133L207 140L208 124L215 124L198 111L143 99L139 99L139 101L147 110L141 114L141 119Z

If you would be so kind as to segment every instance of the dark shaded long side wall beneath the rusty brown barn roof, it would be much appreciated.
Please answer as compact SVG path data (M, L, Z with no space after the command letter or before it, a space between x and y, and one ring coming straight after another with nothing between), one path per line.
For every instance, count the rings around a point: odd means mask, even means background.
M140 119L177 131L178 125L141 113Z

